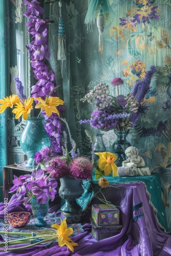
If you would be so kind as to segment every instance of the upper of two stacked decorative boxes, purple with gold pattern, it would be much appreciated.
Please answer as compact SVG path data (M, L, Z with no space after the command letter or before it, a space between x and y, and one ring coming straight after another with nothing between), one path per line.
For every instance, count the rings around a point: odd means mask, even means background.
M118 225L119 209L108 204L93 204L92 220L98 226Z

